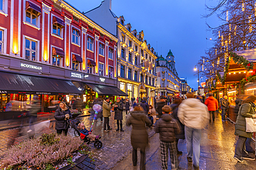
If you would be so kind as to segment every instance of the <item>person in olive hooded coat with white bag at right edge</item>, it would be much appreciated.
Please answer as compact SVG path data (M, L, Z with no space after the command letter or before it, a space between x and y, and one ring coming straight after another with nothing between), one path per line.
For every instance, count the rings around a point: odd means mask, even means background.
M237 145L235 147L235 160L244 162L245 160L255 160L246 151L246 138L252 138L253 133L246 132L246 118L256 118L254 103L256 96L248 96L242 101L235 124L235 135L238 136Z

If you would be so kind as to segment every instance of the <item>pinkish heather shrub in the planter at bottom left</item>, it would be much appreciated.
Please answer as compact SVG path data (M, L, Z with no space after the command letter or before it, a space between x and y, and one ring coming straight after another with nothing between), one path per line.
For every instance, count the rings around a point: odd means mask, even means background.
M10 167L39 167L46 169L46 164L62 161L74 151L84 149L79 137L43 134L21 142L8 149L0 162L1 169Z

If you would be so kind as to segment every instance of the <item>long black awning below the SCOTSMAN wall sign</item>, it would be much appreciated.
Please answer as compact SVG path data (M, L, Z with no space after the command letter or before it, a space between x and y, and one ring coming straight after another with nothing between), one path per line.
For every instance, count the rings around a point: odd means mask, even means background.
M82 94L71 81L8 72L0 72L0 93L49 95Z

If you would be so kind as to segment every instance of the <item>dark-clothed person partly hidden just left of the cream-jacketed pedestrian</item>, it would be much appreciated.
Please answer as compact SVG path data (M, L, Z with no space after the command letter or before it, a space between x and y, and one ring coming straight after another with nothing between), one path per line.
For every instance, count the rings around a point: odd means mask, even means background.
M181 99L180 98L176 98L174 100L174 104L171 105L171 107L172 107L172 116L173 116L173 118L175 118L177 120L177 123L178 123L179 127L181 127L181 132L179 134L176 134L176 136L175 136L176 137L175 138L176 149L177 149L178 155L182 154L182 151L179 151L179 149L178 149L179 140L180 139L183 139L183 140L185 139L185 130L184 130L185 127L178 118L179 105L181 105Z

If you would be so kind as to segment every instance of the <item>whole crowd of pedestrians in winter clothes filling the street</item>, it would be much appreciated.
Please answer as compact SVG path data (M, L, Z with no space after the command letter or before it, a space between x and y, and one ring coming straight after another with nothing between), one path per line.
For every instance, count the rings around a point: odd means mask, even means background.
M246 131L246 118L255 118L256 96L248 96L247 98L237 98L235 100L237 113L237 122L235 125L235 135L239 136L235 148L234 158L238 162L243 159L255 160L255 151L247 147L252 142L252 132ZM75 100L73 101L75 102ZM200 142L202 130L207 128L208 123L214 123L216 112L221 111L221 119L225 122L226 114L229 107L228 97L223 96L220 102L209 93L208 98L194 96L194 93L188 92L185 97L170 98L160 96L154 98L149 103L149 98L116 98L116 102L105 97L104 100L98 98L93 101L93 105L102 105L102 111L98 112L98 117L103 121L104 132L111 131L109 118L111 111L114 112L114 120L116 120L116 131L124 131L123 129L123 111L125 111L126 125L132 126L131 146L132 162L137 165L137 150L140 149L140 169L145 169L145 150L149 142L147 128L154 127L154 131L159 133L162 169L167 169L168 151L170 152L170 162L172 169L178 169L179 140L185 140L187 145L187 160L192 162L194 169L199 169ZM71 103L72 105L72 103ZM79 104L72 105L74 108L80 107ZM220 108L219 108L220 106ZM72 118L71 111L64 102L60 103L60 107L55 111L57 134L68 131L67 120ZM91 135L86 130L84 124L80 125L84 134ZM91 135L92 136L92 135ZM96 138L96 136L93 136Z

